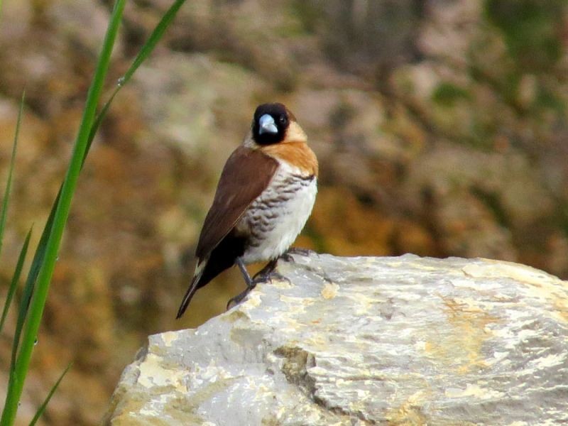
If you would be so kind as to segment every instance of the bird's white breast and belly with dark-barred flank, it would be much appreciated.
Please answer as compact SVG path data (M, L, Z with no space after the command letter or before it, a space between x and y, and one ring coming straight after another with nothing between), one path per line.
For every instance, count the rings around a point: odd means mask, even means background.
M250 235L244 262L268 261L288 250L310 217L316 193L315 176L302 177L300 169L281 162L236 226L239 233Z

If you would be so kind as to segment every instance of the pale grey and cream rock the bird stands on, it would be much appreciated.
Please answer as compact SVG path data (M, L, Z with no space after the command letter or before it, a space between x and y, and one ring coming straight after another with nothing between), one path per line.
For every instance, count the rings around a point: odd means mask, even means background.
M568 422L568 283L487 259L280 261L287 280L149 337L110 425Z

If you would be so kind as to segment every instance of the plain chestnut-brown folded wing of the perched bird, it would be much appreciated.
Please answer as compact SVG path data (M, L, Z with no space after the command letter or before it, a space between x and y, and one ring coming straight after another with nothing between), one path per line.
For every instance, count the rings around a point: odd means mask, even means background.
M270 183L278 161L240 146L226 161L213 204L205 217L195 254L203 259L229 234L246 207Z

